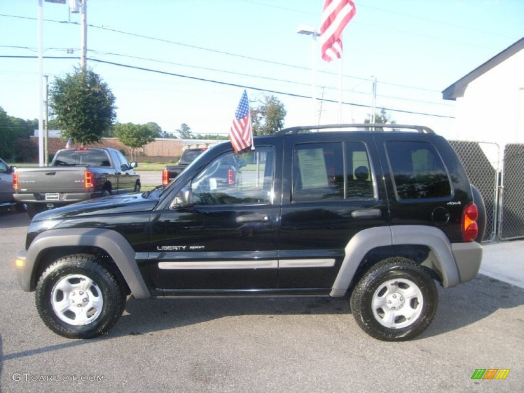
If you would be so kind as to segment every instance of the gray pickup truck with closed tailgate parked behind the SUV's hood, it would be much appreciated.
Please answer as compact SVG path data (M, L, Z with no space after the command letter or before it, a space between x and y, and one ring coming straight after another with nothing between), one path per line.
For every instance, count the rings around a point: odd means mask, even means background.
M37 213L88 199L140 191L136 162L110 148L75 148L57 151L50 167L17 168L14 199Z

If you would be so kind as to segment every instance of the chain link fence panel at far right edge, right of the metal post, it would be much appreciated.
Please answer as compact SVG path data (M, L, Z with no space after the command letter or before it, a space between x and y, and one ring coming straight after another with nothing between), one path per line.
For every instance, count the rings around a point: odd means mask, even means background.
M524 144L504 149L500 239L524 237Z

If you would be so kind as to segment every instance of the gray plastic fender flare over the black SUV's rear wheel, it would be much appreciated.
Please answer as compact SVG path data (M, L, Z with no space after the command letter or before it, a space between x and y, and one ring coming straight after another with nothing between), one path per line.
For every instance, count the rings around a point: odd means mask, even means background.
M357 233L345 248L342 261L330 293L332 297L344 296L355 272L372 249L382 246L416 244L428 246L432 251L434 263L442 274L444 288L459 284L459 271L455 263L451 244L439 228L425 225L398 225L369 228Z

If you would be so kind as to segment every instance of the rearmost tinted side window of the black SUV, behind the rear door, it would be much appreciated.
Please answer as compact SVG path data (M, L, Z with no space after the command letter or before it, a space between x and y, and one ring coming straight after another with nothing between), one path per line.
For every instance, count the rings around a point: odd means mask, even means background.
M386 149L399 199L451 196L449 176L433 145L426 142L390 141Z

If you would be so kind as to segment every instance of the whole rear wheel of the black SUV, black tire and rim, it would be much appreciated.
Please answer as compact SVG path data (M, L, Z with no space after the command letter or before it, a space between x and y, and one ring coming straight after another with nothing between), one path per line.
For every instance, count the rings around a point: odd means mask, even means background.
M370 336L406 341L429 326L438 300L427 272L410 259L391 257L371 267L357 282L350 307L358 325Z

